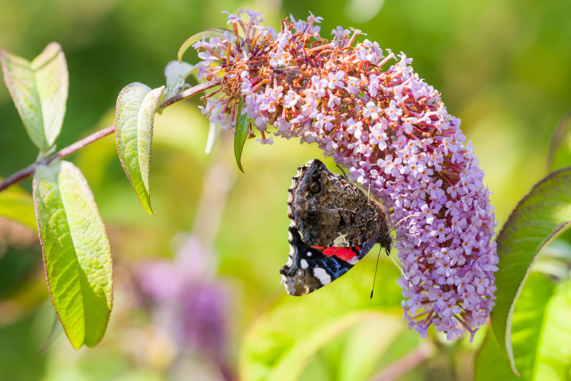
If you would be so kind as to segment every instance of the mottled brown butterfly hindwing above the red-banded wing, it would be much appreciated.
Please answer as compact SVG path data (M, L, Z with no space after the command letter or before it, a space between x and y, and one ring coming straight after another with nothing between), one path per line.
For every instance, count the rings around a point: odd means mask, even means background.
M362 247L385 218L377 202L317 159L298 169L288 193L288 216L308 245Z

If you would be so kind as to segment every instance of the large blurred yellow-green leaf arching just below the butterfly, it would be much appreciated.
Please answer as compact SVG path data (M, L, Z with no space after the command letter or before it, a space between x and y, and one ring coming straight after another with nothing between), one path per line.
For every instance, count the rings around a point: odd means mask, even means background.
M365 261L331 285L300 298L283 291L247 330L239 352L239 378L296 380L316 352L364 322L385 321L387 331L371 333L371 340L384 341L405 330L396 285L399 271L390 262L379 266L376 287L383 292L371 300L373 270L374 262ZM369 371L368 377L374 370Z

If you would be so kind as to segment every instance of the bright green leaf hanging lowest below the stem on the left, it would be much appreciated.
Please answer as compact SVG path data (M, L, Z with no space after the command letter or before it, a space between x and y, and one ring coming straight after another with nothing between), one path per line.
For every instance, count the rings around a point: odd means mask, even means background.
M94 346L111 313L113 273L93 194L67 161L40 165L33 189L51 300L74 348Z

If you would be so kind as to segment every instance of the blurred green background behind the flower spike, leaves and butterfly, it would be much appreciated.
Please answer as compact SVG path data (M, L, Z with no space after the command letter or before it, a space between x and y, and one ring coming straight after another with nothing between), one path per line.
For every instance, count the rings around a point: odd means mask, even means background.
M220 11L236 13L239 7L263 11L264 25L273 27L289 14L305 19L311 11L324 18L322 37L338 25L352 26L381 48L412 57L415 71L462 120L500 226L552 169L550 137L571 109L571 2L1 0L0 48L31 59L51 41L62 45L70 71L57 141L62 148L112 124L116 96L126 84L162 86L164 66L176 59L180 44L199 31L224 27ZM185 59L193 63L195 57L189 52ZM294 139L275 139L272 146L251 140L240 173L228 133L210 155L204 153L208 123L199 104L176 104L155 119L156 216L139 205L112 137L69 159L90 184L114 256L114 310L96 348L74 351L54 323L37 233L0 220L0 380L264 379L258 362L276 363L296 351L307 355L302 379L365 380L415 353L420 341L400 322L394 282L399 274L390 262L380 264L372 302L373 256L318 293L304 299L284 295L279 269L288 252L286 191L299 165L322 156L319 149ZM4 86L0 120L0 176L6 177L32 163L37 151ZM553 168L571 162L568 140L560 140ZM30 191L31 181L22 187ZM202 245L193 253L207 259L201 257L206 262L200 276L186 264L185 278L176 261L182 261L189 236ZM160 266L166 266L162 275L145 273ZM176 301L165 306L168 297L156 291L164 287L168 295L175 278L182 295L192 299L188 309ZM369 310L375 313L363 315ZM351 311L361 313L346 329L339 326L306 352L291 351L296 343L316 343L304 335L319 336L322 322ZM192 320L200 314L202 321ZM178 325L198 333L181 339ZM209 329L218 336L200 336ZM400 379L471 379L478 335L473 344L440 343L440 354L454 355L432 356Z

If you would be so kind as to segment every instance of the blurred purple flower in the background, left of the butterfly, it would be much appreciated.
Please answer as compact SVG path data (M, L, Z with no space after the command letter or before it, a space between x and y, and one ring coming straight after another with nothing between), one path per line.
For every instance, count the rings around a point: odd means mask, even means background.
M136 276L156 324L178 344L180 355L198 353L217 364L227 379L230 290L214 278L214 254L189 237L174 262L143 264Z

